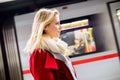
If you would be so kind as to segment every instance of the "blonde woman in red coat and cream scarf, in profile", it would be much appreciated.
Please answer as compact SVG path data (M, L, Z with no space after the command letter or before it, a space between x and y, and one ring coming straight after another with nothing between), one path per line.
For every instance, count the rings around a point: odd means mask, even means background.
M30 71L34 80L77 80L65 51L67 44L59 39L59 12L40 9L33 21L31 37L25 47L30 52Z

